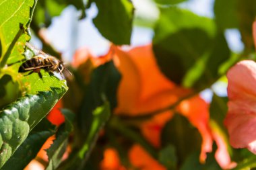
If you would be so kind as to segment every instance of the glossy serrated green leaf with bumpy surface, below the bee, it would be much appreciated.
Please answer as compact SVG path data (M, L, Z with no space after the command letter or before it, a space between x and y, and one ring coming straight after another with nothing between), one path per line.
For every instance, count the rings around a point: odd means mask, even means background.
M54 88L37 95L26 95L0 112L0 168L66 91L65 88Z

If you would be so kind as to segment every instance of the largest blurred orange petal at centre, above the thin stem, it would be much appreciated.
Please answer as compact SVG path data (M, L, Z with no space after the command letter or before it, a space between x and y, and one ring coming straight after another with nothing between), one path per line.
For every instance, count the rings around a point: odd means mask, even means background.
M161 73L152 46L125 52L115 50L115 63L122 79L118 89L117 114L137 115L168 107L191 91L177 87Z

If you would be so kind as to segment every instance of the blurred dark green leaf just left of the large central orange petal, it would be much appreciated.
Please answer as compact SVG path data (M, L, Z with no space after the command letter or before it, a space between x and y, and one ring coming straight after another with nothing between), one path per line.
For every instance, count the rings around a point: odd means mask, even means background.
M110 102L110 108L117 105L117 86L121 79L120 73L115 68L113 61L106 62L97 67L90 77L90 84L86 86L84 99L77 114L78 126L84 136L88 135L89 127L92 124L92 112L104 104L102 97Z

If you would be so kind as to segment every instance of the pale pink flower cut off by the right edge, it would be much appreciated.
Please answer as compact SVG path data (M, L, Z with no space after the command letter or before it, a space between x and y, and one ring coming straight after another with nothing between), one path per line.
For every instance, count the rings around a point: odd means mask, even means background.
M224 124L234 148L248 148L256 154L256 63L243 60L228 77L228 114Z

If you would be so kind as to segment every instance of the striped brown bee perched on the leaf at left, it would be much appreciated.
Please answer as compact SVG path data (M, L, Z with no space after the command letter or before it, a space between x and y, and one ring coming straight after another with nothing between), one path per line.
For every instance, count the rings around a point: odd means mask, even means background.
M26 46L33 50L36 56L23 62L19 68L19 73L25 73L27 71L30 71L28 75L30 75L31 73L38 73L39 77L42 78L42 75L40 74L40 69L44 69L49 73L60 73L61 77L63 77L64 70L71 75L71 73L64 67L63 62L55 56L46 54L41 50L34 48L34 46L29 43L26 43Z

